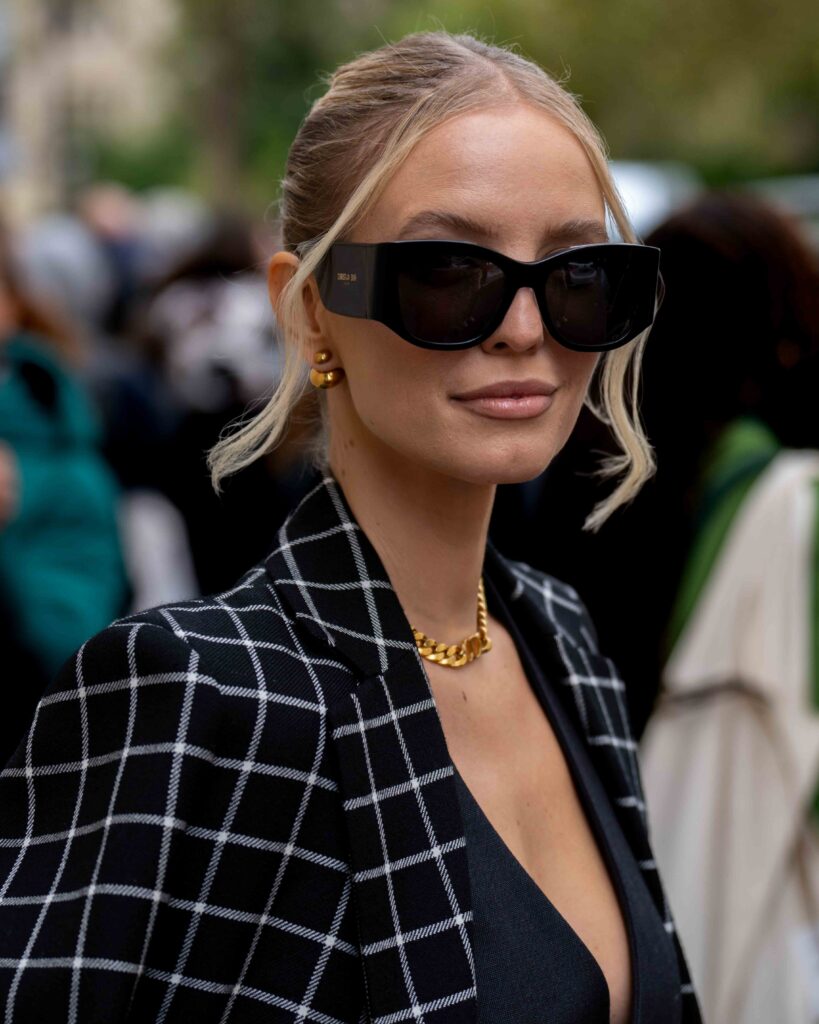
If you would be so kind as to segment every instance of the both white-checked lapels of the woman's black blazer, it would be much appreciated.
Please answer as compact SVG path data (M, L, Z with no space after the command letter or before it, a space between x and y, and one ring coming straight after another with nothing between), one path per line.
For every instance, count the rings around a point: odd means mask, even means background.
M332 474L291 513L277 540L266 567L278 592L356 677L354 689L328 708L328 720L370 1020L475 1024L466 840L451 760L410 623ZM594 627L576 595L504 558L491 542L484 574L514 602L516 622L590 742L627 837L647 856L622 682L594 648Z

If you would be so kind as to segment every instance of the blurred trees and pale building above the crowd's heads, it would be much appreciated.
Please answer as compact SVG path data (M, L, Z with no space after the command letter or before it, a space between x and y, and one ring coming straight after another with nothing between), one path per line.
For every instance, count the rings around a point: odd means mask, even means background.
M679 165L669 188L786 177L775 194L816 215L810 178L792 177L819 166L809 0L4 0L0 9L2 163L15 217L66 206L100 179L140 193L173 185L258 216L318 77L438 27L516 43L568 78L613 158Z

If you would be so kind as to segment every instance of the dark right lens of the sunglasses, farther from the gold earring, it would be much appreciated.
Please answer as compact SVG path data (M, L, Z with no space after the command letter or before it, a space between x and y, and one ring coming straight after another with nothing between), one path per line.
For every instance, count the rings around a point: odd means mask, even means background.
M549 274L546 304L560 339L577 348L614 345L646 325L640 319L646 288L653 288L640 261L622 250L580 253Z

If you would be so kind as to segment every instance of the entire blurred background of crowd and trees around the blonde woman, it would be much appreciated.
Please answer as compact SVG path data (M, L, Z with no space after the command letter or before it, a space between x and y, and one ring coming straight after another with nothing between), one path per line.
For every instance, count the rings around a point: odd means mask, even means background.
M513 44L601 128L666 297L641 392L655 476L584 531L616 453L584 410L541 477L499 488L490 536L576 587L627 681L706 1019L819 1020L816 14L0 0L0 762L85 639L231 586L313 483L314 394L221 498L205 454L277 380L265 261L326 78L414 31Z

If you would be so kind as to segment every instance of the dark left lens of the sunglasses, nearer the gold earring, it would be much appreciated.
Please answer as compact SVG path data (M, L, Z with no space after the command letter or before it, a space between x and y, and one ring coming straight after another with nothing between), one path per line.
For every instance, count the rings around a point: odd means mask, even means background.
M401 259L398 305L420 341L458 344L481 334L504 297L504 272L488 260L429 251Z

